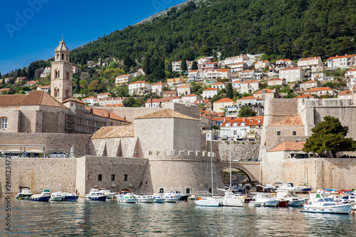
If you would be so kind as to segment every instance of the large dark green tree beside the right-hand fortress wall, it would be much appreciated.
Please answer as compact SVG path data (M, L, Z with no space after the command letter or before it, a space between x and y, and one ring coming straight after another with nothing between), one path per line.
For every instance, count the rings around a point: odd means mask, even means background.
M336 117L325 116L323 122L319 122L312 128L313 134L306 140L303 152L331 152L335 157L336 152L356 151L356 142L352 138L346 138L349 128L342 126Z

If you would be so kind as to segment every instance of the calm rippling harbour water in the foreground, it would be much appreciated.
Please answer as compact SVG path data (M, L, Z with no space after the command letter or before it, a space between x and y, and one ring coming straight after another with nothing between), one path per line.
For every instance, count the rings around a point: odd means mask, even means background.
M11 199L0 236L356 236L356 216L308 214L301 208L117 204L116 201L33 202Z

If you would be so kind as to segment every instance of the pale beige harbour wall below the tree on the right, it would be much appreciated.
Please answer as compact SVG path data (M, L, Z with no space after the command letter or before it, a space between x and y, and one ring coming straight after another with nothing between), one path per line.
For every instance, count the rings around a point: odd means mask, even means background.
M274 153L274 152L273 152ZM268 155L261 163L261 183L306 184L314 189L356 189L355 158L279 159Z

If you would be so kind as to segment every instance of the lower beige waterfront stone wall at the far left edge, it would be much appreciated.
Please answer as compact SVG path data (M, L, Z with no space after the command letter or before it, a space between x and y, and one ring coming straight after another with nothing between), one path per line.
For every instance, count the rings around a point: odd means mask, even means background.
M33 194L41 189L75 191L77 159L70 158L11 158L11 194L19 192L19 186L28 186ZM0 158L0 194L6 191L6 162ZM9 169L8 169L9 170Z

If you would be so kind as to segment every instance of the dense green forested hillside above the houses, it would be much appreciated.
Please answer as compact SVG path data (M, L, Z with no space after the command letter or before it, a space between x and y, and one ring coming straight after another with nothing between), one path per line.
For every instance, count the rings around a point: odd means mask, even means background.
M115 31L71 52L73 63L145 56L193 60L223 52L297 59L355 53L355 0L205 0Z

